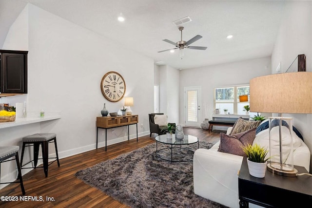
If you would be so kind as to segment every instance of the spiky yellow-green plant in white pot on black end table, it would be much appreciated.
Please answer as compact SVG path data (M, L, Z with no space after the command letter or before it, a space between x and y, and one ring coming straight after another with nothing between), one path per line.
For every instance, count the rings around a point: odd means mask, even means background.
M244 146L243 151L247 155L249 174L257 178L264 178L269 159L265 157L269 151L258 144Z

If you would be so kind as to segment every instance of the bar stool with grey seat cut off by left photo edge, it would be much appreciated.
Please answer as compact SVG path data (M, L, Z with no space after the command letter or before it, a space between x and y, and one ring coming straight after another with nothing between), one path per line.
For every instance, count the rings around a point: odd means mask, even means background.
M0 184L11 184L11 183L20 183L20 189L23 195L25 195L25 189L23 185L23 179L21 177L21 170L20 170L20 159L19 159L19 146L4 146L0 147L0 172L1 172L1 163L8 162L14 159L10 159L11 157L15 156L16 164L18 166L18 179L19 181L14 182L6 182Z

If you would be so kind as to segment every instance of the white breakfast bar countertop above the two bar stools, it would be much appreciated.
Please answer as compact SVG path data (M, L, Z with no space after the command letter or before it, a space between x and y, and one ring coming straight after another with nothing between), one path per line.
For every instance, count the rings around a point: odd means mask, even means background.
M10 122L0 122L0 129L20 126L25 124L38 123L42 121L50 121L61 118L60 115L51 115L44 117L26 117L26 118L16 118L15 121Z

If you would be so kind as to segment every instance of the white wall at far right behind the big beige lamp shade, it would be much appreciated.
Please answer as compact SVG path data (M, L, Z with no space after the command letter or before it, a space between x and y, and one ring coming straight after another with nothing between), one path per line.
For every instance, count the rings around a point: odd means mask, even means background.
M279 62L281 72L284 73L299 54L306 55L307 71L312 72L312 1L287 1L285 16L273 49L272 74L276 73L275 69ZM293 126L301 132L304 142L312 153L312 115L283 115L293 118ZM312 167L312 157L310 161Z

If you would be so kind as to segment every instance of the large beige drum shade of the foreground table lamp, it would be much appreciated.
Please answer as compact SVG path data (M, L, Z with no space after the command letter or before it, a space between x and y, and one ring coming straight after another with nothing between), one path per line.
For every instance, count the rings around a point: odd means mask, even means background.
M251 79L250 111L312 113L312 72L282 73Z

